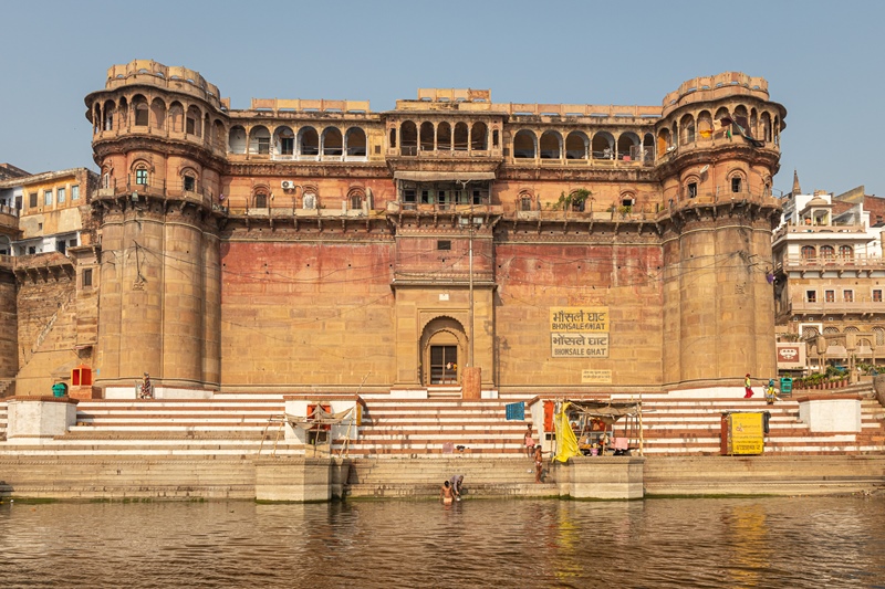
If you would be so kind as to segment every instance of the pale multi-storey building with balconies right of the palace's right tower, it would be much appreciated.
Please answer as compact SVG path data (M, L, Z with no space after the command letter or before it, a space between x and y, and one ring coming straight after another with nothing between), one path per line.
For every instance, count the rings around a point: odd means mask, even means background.
M884 212L863 187L803 194L794 176L772 244L779 347L806 357L794 369L885 358Z

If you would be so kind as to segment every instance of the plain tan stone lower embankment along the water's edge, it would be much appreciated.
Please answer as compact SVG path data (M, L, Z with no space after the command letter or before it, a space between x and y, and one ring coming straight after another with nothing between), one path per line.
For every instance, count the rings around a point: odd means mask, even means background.
M299 462L290 459L283 464L283 459L273 460L285 469L296 466ZM304 462L304 459L299 460ZM429 498L438 496L441 482L454 474L465 474L469 494L489 497L820 495L885 490L884 455L586 459L580 464L548 465L549 472L541 485L534 483L530 461L519 459L329 462L329 497L343 492L354 498ZM0 455L0 496L251 501L257 497L259 486L257 464L267 466L269 459ZM347 467L343 467L345 464ZM279 473L272 473L272 476L279 477ZM290 486L292 481L296 481L294 475L285 476ZM347 476L347 484L342 487L343 476ZM269 478L266 476L264 481L267 483ZM637 488L642 492L637 493ZM303 496L292 490L289 492L291 498L275 491L264 493L263 497L270 501L317 501L313 492ZM319 501L324 498L319 497Z

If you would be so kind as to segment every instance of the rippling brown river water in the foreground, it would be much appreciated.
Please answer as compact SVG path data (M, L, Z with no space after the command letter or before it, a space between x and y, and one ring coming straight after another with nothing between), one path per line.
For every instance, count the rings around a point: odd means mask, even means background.
M885 588L885 497L7 499L0 587Z

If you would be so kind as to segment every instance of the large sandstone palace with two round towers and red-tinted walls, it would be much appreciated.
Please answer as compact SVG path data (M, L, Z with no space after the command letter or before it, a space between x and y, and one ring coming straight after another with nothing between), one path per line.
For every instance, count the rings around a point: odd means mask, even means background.
M136 61L85 102L101 178L69 255L103 395L144 372L169 396L775 375L785 109L762 78L699 77L659 106L419 90L382 113L235 111L197 72Z

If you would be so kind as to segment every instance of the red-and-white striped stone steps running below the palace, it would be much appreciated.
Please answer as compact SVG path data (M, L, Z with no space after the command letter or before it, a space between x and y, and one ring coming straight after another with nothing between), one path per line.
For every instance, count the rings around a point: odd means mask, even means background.
M440 392L440 391L436 391ZM392 399L366 395L358 437L339 438L313 449L351 459L487 460L525 459L525 421L507 421L509 396L496 400L462 400L450 392L428 399ZM885 453L885 409L860 387L863 396L862 431L814 433L799 421L795 398L767 406L761 398L687 398L667 393L643 395L644 454L646 456L718 455L721 414L727 411L768 411L767 454ZM618 397L614 396L614 400ZM528 407L527 407L528 409ZM0 450L22 455L143 455L247 456L295 455L301 444L287 442L279 418L283 395L219 393L207 400L84 400L71 431L48 443L3 444ZM535 439L538 424L535 425ZM616 435L622 433L615 425ZM0 402L0 440L6 439L7 406ZM637 440L632 445L638 445ZM311 450L311 449L308 449ZM635 452L634 452L635 454ZM481 461L486 462L486 460ZM529 461L530 462L530 461ZM528 470L528 467L527 467ZM532 481L530 473L525 473Z

